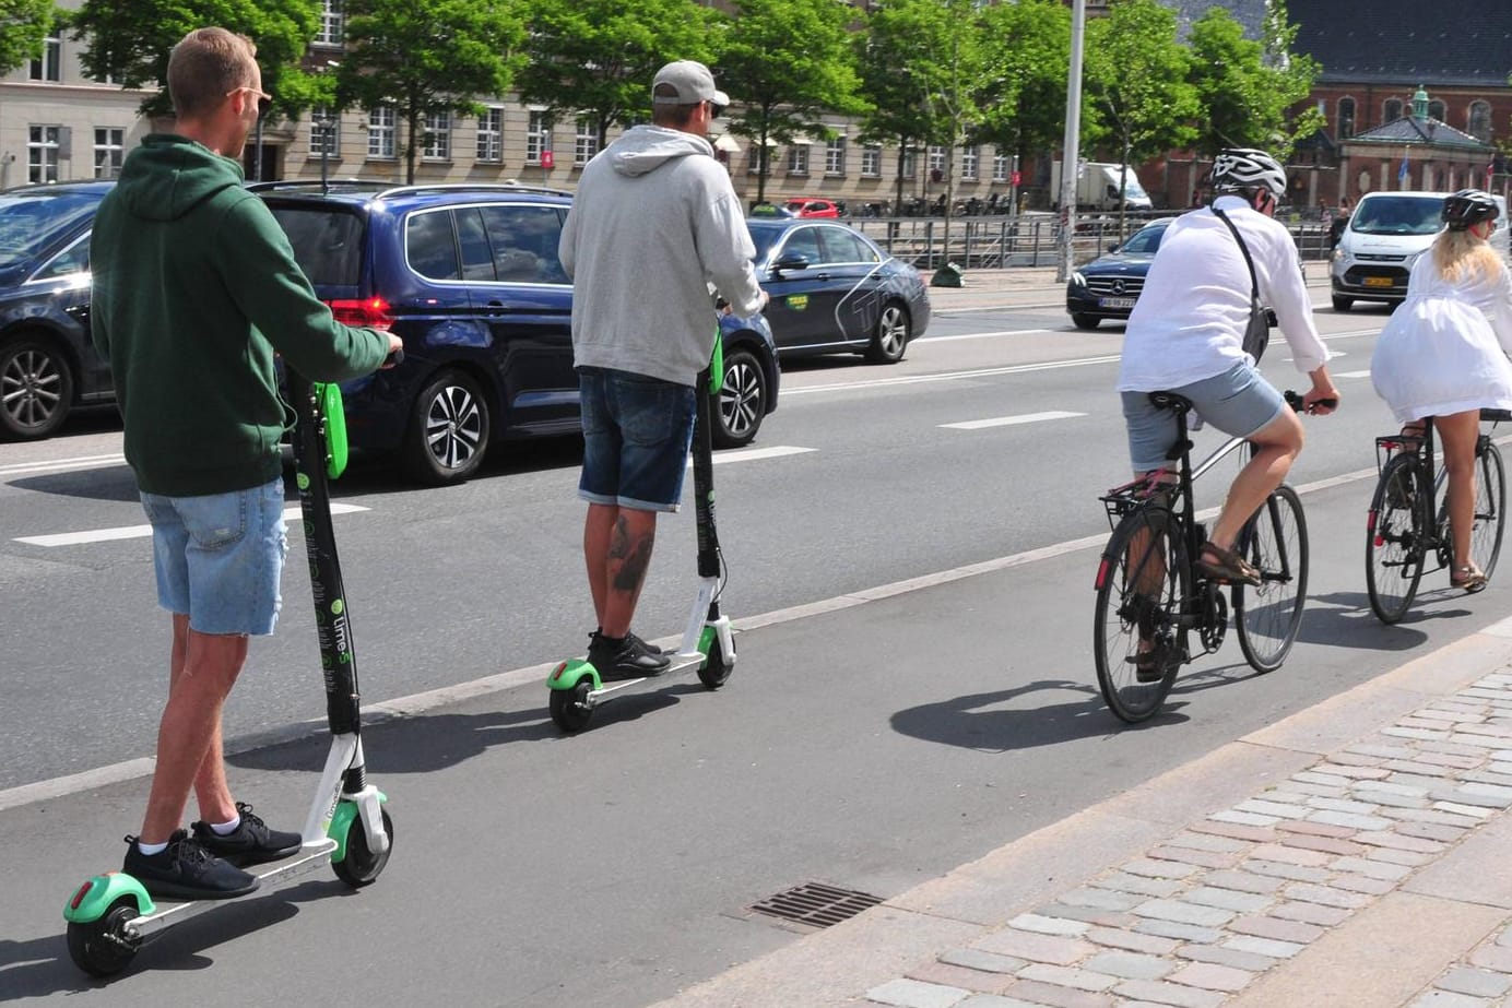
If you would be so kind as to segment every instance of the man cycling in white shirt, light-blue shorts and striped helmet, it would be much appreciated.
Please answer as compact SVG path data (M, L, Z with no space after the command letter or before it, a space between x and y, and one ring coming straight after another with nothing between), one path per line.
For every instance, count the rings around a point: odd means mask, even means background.
M1207 423L1253 443L1196 565L1219 580L1258 585L1259 574L1234 552L1234 541L1302 450L1302 422L1244 352L1250 274L1220 215L1243 236L1261 302L1275 310L1297 370L1312 379L1303 408L1332 413L1338 390L1312 323L1297 248L1272 219L1287 190L1285 171L1264 151L1226 150L1213 160L1210 178L1211 206L1173 221L1160 242L1123 335L1117 388L1136 475L1167 467L1176 441L1175 416L1149 402L1152 391L1190 399Z

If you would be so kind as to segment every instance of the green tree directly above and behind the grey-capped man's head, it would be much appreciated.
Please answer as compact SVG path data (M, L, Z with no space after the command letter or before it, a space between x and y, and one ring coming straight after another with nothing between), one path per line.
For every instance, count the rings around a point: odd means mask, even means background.
M593 119L599 148L609 128L650 115L652 77L674 59L712 62L712 11L694 0L534 0L520 101L552 119Z

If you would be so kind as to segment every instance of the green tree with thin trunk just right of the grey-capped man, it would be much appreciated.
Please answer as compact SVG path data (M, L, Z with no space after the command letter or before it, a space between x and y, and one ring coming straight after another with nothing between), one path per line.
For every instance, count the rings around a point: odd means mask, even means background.
M770 148L800 133L826 136L820 116L856 113L859 80L848 21L835 0L736 0L736 20L715 35L715 79L738 109L730 133L756 145L756 198L767 198Z

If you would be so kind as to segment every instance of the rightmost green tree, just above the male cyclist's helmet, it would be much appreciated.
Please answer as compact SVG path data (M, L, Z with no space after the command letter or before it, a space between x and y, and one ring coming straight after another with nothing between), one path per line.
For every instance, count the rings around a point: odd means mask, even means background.
M1323 127L1323 113L1311 104L1288 115L1318 76L1317 60L1290 51L1296 35L1281 5L1270 11L1261 41L1244 38L1243 26L1222 8L1193 23L1188 79L1202 104L1194 142L1199 153L1259 147L1285 162L1299 139Z

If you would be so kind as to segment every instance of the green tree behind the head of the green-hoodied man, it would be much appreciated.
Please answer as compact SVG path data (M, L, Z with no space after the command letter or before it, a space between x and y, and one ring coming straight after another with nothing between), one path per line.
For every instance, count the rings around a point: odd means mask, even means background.
M71 36L85 41L85 73L122 88L159 88L142 101L144 115L172 112L168 54L206 26L253 39L275 115L298 115L322 86L299 66L319 24L321 0L85 0L70 18Z

